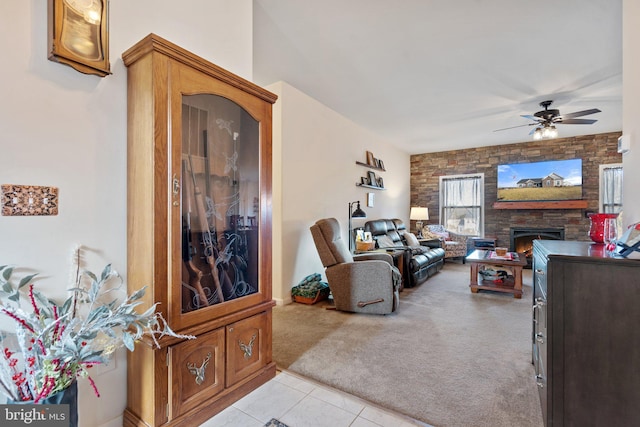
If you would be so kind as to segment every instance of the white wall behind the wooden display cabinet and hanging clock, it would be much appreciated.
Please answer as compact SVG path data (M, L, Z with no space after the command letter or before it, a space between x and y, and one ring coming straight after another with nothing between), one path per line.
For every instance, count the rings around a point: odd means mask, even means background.
M0 184L59 188L59 214L0 216L0 265L42 273L38 288L64 298L71 249L85 268L126 273L127 77L120 55L154 32L244 78L252 77L251 0L110 0L113 75L47 60L47 2L0 1ZM145 285L139 284L140 287ZM113 364L112 364L113 365ZM80 424L121 426L126 360L97 371L102 394L80 381ZM108 372L108 373L107 373Z

